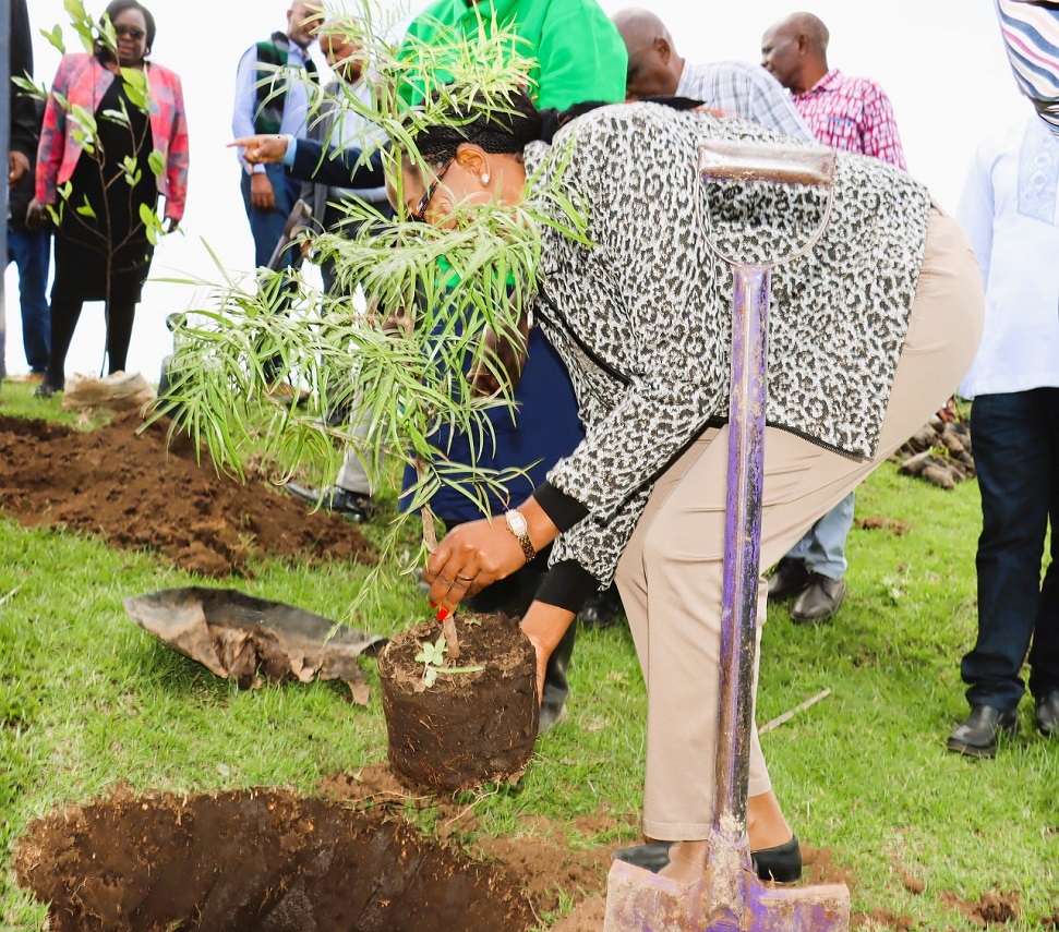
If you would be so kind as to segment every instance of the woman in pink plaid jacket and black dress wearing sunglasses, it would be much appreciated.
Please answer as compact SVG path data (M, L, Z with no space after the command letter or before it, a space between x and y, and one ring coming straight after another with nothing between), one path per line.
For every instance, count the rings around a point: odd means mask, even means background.
M97 43L95 55L63 56L37 153L31 222L43 222L48 207L59 214L51 359L37 388L41 397L63 387L67 350L85 301L106 302L109 371L124 370L157 239L144 217L157 210L160 194L168 230L175 230L188 194L180 77L146 61L154 16L137 0L113 0L100 24L108 17L117 55ZM140 71L146 81L141 85L135 74L123 77L122 71Z

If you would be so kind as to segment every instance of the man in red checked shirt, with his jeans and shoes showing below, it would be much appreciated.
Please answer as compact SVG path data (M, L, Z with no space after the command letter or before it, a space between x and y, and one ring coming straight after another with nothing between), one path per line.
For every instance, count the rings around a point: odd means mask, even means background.
M761 38L761 65L791 92L813 134L825 145L874 156L906 169L890 98L874 81L828 68L828 27L811 13L793 13ZM769 601L797 596L796 624L829 620L845 595L845 541L853 493L814 524L769 579Z

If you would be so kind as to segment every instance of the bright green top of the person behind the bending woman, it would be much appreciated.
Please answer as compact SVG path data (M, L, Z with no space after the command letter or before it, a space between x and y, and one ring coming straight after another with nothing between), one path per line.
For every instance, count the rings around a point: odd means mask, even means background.
M437 0L417 16L408 36L430 45L445 41L453 33L461 38L473 36L480 24L492 27L494 14L501 27L525 40L518 52L537 59L530 80L542 110L625 99L628 52L595 0L482 0L477 4ZM404 55L411 55L407 44ZM416 96L422 96L421 88L406 94L406 98Z

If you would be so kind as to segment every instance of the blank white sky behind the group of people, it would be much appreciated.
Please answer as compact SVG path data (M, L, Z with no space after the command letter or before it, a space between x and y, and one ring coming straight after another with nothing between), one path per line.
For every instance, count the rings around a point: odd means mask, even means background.
M408 0L405 0L405 9ZM657 12L688 61L759 61L765 29L799 9L791 0L601 0L607 13L638 3ZM98 14L106 0L86 0ZM152 57L180 74L191 133L191 172L183 235L165 239L155 252L152 279L220 280L201 240L226 268L246 271L253 242L239 193L239 167L230 138L236 65L243 50L286 25L284 0L146 0L158 26ZM412 12L426 0L412 0ZM912 174L948 210L955 209L977 141L1030 112L1014 86L1000 41L992 0L814 0L801 9L819 15L831 32L829 63L846 74L878 81L893 100ZM36 33L56 23L71 29L62 0L31 0L37 83L48 86L58 52ZM318 49L314 51L318 57ZM8 371L27 370L22 348L16 275L8 288ZM136 315L130 371L156 382L170 351L166 315L194 301L188 286L148 280ZM103 359L103 305L86 304L67 358L67 373L97 373Z

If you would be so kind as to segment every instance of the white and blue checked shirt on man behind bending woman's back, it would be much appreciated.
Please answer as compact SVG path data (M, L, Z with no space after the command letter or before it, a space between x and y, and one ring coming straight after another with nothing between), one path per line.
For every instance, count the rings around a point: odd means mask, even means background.
M754 120L801 140L815 138L783 85L757 64L743 61L685 64L676 95L701 100L725 117Z

